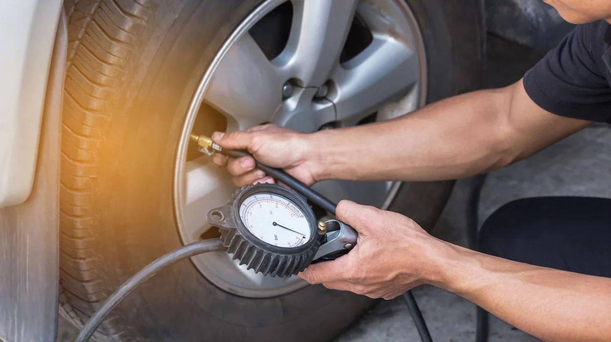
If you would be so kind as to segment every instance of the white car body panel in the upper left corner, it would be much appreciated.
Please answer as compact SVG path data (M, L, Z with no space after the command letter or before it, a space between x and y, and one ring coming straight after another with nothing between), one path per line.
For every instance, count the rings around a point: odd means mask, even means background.
M0 207L32 191L62 0L0 1Z

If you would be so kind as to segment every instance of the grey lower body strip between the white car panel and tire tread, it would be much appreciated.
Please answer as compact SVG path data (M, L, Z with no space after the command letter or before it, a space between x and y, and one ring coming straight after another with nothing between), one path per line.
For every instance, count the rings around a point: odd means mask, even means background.
M43 86L45 111L40 149L34 154L32 194L22 204L0 208L3 342L53 342L57 335L60 132L68 42L65 17L60 18L53 58L49 58L51 72Z

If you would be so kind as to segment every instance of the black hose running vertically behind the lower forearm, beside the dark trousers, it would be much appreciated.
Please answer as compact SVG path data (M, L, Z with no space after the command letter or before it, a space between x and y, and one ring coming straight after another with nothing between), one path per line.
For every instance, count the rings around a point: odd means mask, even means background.
M477 251L478 248L478 215L480 212L481 190L486 182L488 174L478 174L474 177L473 185L469 193L469 205L467 207L467 238L469 248ZM488 311L483 308L475 308L475 342L488 342Z

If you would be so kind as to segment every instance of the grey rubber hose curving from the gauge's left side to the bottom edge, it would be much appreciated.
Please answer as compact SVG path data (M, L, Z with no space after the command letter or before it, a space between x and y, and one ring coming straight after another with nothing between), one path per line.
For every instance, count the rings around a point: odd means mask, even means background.
M104 304L91 316L87 324L82 327L81 332L76 336L76 342L87 342L98 329L104 318L114 309L131 291L134 291L138 286L147 281L148 278L153 277L160 270L175 264L191 256L196 256L202 253L208 253L210 251L224 250L220 239L209 239L190 243L189 245L177 248L166 255L161 256L155 261L151 262L144 269L139 270L133 275L128 281L125 281L120 288L117 289Z

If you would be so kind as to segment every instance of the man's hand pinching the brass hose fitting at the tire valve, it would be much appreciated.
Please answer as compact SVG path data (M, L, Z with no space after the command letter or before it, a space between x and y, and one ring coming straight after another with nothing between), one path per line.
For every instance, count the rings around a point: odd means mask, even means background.
M227 134L214 132L212 138L224 149L246 150L259 162L284 169L307 185L317 181L312 171L311 156L315 151L310 146L309 135L276 125L262 125ZM255 168L255 161L251 157L228 159L215 154L213 162L218 166L227 166L233 176L233 183L238 187L256 182L274 182L263 171Z

